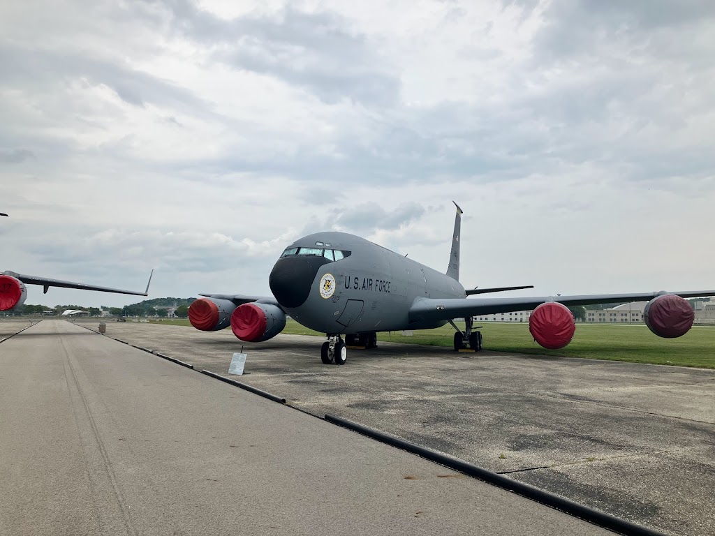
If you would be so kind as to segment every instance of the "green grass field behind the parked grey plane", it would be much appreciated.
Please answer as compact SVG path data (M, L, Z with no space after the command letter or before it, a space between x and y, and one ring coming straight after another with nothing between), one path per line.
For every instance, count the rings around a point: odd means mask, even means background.
M191 325L187 319L164 319L156 323ZM696 326L678 339L661 339L642 324L577 324L576 335L571 344L559 350L547 350L536 344L529 333L528 324L485 322L480 331L484 337L484 349L495 352L588 357L715 369L715 327ZM283 333L324 336L302 327L294 320L288 320ZM415 331L413 337L403 337L400 332L378 333L378 340L452 347L453 333L453 327L447 325L438 329Z

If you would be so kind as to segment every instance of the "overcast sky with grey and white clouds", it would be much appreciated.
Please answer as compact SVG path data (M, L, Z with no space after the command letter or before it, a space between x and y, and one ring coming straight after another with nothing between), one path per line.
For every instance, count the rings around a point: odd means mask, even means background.
M465 287L711 289L714 35L711 0L2 2L0 271L269 294L330 229L445 271L454 199Z

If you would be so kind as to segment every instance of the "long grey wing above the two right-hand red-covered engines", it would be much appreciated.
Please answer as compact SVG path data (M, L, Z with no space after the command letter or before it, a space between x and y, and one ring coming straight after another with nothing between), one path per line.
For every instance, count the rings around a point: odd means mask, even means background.
M646 302L661 294L676 294L683 298L715 296L715 290L686 292L644 292L642 294L581 294L576 296L546 296L534 298L418 298L410 307L410 322L450 320L482 314L526 311L546 302L568 306L617 302Z

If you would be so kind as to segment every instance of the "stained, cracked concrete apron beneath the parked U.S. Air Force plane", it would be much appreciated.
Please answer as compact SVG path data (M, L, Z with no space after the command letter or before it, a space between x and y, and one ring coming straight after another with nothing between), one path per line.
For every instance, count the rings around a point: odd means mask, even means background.
M89 322L89 321L88 321ZM97 320L87 324L97 329ZM706 328L701 328L706 329ZM715 535L715 370L110 322L107 334L672 535ZM715 347L715 329L714 347Z

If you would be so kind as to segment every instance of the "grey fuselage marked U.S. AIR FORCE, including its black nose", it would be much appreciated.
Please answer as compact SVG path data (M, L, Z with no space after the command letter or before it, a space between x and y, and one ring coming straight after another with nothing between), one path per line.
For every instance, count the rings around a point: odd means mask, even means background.
M323 253L300 254L307 251L300 248ZM344 258L335 260L340 256L336 251ZM276 262L270 286L287 314L326 334L440 327L445 320L410 324L408 312L415 300L466 297L452 277L341 232L310 234L293 242Z

